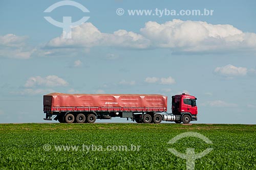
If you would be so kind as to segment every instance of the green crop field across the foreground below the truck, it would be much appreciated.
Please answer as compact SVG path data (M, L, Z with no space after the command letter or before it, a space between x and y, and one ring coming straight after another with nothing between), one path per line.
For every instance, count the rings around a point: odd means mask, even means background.
M0 124L0 169L256 169L255 155L256 125Z

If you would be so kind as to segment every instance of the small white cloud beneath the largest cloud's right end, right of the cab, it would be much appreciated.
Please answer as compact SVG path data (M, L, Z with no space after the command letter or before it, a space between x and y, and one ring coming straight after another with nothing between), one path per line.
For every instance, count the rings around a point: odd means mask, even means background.
M215 68L214 72L226 76L226 77L233 77L233 76L246 76L247 75L247 68L246 67L236 67L231 64L217 67Z

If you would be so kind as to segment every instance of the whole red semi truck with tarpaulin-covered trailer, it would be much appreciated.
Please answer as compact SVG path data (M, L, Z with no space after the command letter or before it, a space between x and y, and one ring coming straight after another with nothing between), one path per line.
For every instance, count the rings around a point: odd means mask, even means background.
M94 123L96 119L124 117L137 123L159 124L162 120L188 124L197 120L195 96L172 96L172 113L167 113L167 96L160 94L65 94L44 95L45 120L60 123Z

